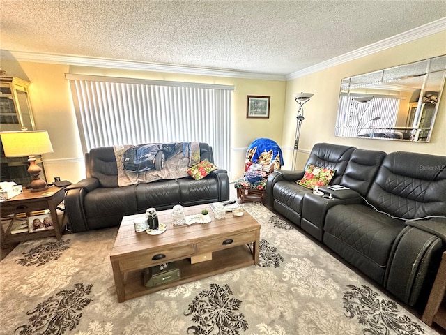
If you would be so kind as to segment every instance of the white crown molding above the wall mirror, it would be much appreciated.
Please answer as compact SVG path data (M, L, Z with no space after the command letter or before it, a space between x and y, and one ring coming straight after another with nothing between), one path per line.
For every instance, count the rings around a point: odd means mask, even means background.
M328 59L328 61L323 61L314 66L309 66L308 68L304 68L303 70L293 72L289 75L286 75L286 80L293 80L298 77L303 77L304 75L309 75L320 70L325 70L326 68L331 68L332 66L344 64L348 61L353 61L361 57L369 56L370 54L374 54L375 52L380 52L386 49L390 49L391 47L396 47L397 45L401 45L403 43L417 40L418 38L423 38L432 34L439 33L440 31L446 31L446 17L430 22L428 24L424 24L420 27L410 29L390 38L386 38L385 40L380 40L371 45L361 47L360 49L353 50L352 52L347 52L346 54L342 54L339 57Z

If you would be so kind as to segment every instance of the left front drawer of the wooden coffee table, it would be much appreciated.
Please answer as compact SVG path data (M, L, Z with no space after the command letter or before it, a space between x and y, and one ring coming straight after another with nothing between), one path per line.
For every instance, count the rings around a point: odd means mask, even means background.
M132 269L142 269L152 267L156 264L170 262L179 258L187 258L194 255L194 244L186 246L171 246L169 248L159 248L150 251L147 255L141 257L126 258L119 261L121 271Z

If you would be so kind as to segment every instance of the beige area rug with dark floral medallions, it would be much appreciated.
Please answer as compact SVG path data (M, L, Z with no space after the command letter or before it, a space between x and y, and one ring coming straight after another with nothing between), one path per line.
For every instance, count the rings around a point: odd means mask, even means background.
M261 204L260 262L119 304L117 228L28 241L1 261L0 334L438 334Z

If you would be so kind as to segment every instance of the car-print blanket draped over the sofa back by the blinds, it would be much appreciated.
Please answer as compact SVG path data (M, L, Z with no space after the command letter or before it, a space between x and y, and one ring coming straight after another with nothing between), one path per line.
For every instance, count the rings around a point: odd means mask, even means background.
M119 186L187 177L187 168L200 161L199 142L116 145L113 149Z

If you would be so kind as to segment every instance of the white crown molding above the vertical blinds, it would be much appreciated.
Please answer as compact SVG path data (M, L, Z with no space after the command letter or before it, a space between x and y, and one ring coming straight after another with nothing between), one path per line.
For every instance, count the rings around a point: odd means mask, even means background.
M66 54L45 54L39 52L1 50L1 58L15 61L31 61L35 63L94 66L99 68L118 68L123 70L142 70L164 73L182 73L185 75L208 75L253 80L278 80L282 82L286 80L285 75L274 75L269 73L252 73L236 70L224 70L219 68L200 68L193 66L156 64L144 61L125 61L121 59L77 57Z

